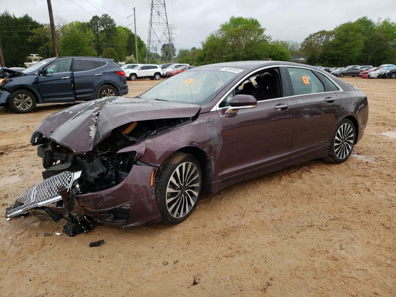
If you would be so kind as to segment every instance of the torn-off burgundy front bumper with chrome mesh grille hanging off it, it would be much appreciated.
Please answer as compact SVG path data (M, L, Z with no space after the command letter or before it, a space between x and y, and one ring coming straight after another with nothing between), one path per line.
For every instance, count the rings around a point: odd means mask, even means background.
M118 185L89 194L78 194L81 171L65 171L30 188L6 209L6 217L9 219L29 211L36 219L53 221L59 221L65 215L76 218L88 215L101 223L116 226L159 223L162 217L154 185L150 187L153 170L156 168L135 164ZM59 190L62 187L63 192Z

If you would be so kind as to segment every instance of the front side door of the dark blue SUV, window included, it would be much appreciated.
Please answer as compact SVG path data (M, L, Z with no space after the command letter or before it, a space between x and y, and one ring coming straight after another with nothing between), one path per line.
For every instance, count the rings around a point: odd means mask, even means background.
M39 74L38 86L44 102L74 102L72 60L57 60L42 69L44 74Z

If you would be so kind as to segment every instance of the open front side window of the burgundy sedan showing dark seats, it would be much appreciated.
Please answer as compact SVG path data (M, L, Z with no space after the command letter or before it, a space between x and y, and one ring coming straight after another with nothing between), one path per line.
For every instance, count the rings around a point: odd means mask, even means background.
M257 101L282 97L282 84L278 68L265 69L255 73L237 86L220 104L219 107L230 106L228 102L235 95L252 95Z

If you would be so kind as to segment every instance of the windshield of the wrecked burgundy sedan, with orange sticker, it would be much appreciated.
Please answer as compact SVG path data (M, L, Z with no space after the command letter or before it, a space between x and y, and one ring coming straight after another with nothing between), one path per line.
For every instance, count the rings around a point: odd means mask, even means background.
M245 69L200 67L164 80L145 93L144 99L204 105Z

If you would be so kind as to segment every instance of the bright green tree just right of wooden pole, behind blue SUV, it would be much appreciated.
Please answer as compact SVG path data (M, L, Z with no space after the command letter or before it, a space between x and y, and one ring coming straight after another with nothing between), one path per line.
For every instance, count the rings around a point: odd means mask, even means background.
M80 22L71 22L64 28L63 38L59 44L61 56L96 56L94 48L95 36L89 29L81 30Z

